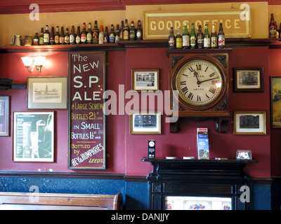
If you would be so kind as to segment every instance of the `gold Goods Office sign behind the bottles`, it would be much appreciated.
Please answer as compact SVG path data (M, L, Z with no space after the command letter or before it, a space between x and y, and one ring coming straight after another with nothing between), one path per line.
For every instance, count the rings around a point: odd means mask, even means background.
M188 25L190 31L191 24L194 23L195 30L199 25L202 26L204 32L204 25L207 24L209 33L211 33L211 25L216 25L218 32L219 23L223 24L223 31L225 36L230 38L249 38L251 37L250 27L250 11L231 10L223 12L190 12L190 13L160 13L160 12L145 12L144 13L144 39L164 39L168 38L170 28L174 27L174 34L176 35L177 27L181 28Z

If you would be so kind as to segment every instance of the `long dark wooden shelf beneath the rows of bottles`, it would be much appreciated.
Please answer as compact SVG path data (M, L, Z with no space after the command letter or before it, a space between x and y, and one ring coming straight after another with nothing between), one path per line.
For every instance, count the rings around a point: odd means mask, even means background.
M270 38L226 38L226 48L268 46L281 48L280 39ZM153 39L143 41L118 41L105 44L79 44L79 45L37 45L37 46L0 46L0 53L6 52L71 52L90 50L126 50L126 48L168 48L168 40ZM195 49L198 50L198 49Z

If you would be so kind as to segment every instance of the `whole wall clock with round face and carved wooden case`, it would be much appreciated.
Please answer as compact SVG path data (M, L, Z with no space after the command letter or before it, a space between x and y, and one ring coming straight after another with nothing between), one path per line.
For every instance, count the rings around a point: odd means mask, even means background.
M170 132L179 131L183 119L214 120L217 132L226 132L228 112L228 54L231 49L167 50L169 90L178 91L177 123Z

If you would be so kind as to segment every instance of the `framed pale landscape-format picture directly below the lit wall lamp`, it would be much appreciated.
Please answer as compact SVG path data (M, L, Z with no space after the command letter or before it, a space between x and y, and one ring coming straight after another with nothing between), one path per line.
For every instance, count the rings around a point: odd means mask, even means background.
M67 109L67 77L28 77L27 109Z

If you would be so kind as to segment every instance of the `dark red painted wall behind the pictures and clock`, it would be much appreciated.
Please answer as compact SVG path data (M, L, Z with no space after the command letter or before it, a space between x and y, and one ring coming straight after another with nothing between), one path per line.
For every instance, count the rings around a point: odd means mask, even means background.
M160 90L168 90L169 58L166 48L127 48L126 50L107 51L107 90L119 92L119 85L124 85L124 92L131 90L131 69L160 69ZM271 50L270 50L271 51ZM20 57L25 53L0 54L0 66L3 77L11 77L15 82L25 83L27 76L67 76L67 52L46 52L46 65L42 72L34 71L31 75L23 66ZM39 55L34 53L31 55ZM42 54L40 54L42 55ZM233 135L233 117L228 122L228 132L218 134L214 131L215 124L207 122L181 123L181 132L169 133L169 123L165 123L166 115L162 116L162 134L135 135L130 134L129 115L107 116L107 172L126 175L146 176L152 166L141 162L147 156L149 139L156 140L156 155L195 156L196 128L209 128L210 158L235 158L236 149L251 149L253 158L259 164L247 165L247 172L254 177L270 177L270 91L268 75L269 50L266 47L237 47L230 52L230 113L233 111L266 111L266 136ZM263 93L233 93L233 67L263 67ZM11 115L13 111L26 110L27 90L3 90L1 95L11 96ZM130 92L129 92L130 93ZM124 104L131 99L125 99ZM120 102L122 103L122 97ZM119 100L118 100L119 103ZM120 104L119 104L120 105ZM38 169L53 169L53 172L77 172L67 169L67 111L55 112L55 162L24 163L12 162L13 119L11 118L11 137L0 138L0 171L37 172ZM81 171L80 171L81 172Z

